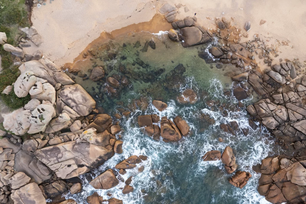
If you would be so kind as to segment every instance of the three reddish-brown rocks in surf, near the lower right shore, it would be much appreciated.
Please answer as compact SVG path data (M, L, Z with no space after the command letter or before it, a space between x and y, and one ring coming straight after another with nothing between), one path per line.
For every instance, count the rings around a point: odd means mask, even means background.
M228 174L235 172L238 167L236 164L236 157L233 154L233 149L229 146L224 149L222 155L218 150L211 150L205 153L202 159L203 161L217 161L221 159ZM235 175L229 179L229 182L233 186L241 189L248 183L248 179L251 177L252 175L249 172L237 171L235 172Z

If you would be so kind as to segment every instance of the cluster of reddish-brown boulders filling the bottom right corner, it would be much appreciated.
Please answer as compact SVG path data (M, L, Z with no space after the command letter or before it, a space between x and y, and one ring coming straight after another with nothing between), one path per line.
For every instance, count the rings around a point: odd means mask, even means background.
M258 192L271 203L306 202L306 157L267 157L262 160Z

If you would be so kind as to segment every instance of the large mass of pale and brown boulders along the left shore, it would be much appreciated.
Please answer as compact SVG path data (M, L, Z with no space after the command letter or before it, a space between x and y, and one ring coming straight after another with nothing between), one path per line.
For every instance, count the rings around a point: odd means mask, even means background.
M25 32L39 44L32 28ZM123 142L116 137L121 132L119 122L113 124L110 115L98 114L96 102L86 90L41 51L32 60L25 60L20 48L4 47L21 59L21 75L4 93L14 91L17 97L29 94L31 100L22 108L2 114L3 127L9 134L0 132L4 136L0 140L0 202L44 204L47 198L67 191L79 193L81 183L69 179L103 164L114 153L122 153ZM104 74L98 68L91 72L92 80ZM116 85L114 79L108 81ZM88 201L98 204L103 198L94 194ZM59 203L76 204L72 199ZM111 198L109 203L122 201Z

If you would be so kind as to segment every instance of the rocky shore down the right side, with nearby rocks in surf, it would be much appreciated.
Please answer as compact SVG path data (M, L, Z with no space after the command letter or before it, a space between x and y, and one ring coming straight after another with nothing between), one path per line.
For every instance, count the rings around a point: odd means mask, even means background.
M259 194L264 195L266 200L273 204L306 202L306 61L303 64L295 58L292 61L280 59L278 63L273 62L273 58L278 56L277 47L267 45L259 35L255 35L252 41L244 42L241 37L248 37L250 21L244 25L246 32L241 33L242 29L225 17L216 18L217 29L211 33L212 29L197 25L195 16L176 21L174 6L164 5L161 13L164 10L169 12L164 15L173 26L168 32L170 40L190 47L211 42L215 36L220 44L223 44L209 48L209 53L217 59L217 63L231 63L241 68L241 74L232 76L232 80L235 81L233 95L239 101L239 107L243 108L244 105L240 101L252 96L254 91L258 98L262 98L246 107L252 119L249 120L249 125L254 130L258 128L258 123L266 127L274 136L275 144L281 145L288 155L267 157L261 164L253 167L254 171L261 173ZM169 18L169 14L174 16ZM265 21L261 21L260 25L264 23ZM288 45L284 41L282 44ZM262 60L265 69L260 68L260 64L255 61L255 55ZM209 62L209 58L203 59ZM216 103L211 101L210 104ZM207 122L214 123L209 116L203 117ZM221 124L220 128L233 135L239 129L237 122ZM247 129L242 131L248 135ZM219 138L219 141L222 142L222 138ZM226 147L222 157L220 151L207 152L203 160L215 161L221 158L230 174L236 170L237 164L232 151L228 153L228 149L230 147ZM293 156L290 156L292 154ZM226 162L225 155L231 160ZM229 181L234 186L242 188L250 177L248 172L236 172Z

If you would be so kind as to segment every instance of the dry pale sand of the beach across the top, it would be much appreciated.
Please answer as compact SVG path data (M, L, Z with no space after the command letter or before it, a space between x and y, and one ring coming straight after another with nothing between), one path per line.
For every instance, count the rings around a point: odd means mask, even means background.
M33 53L40 49L58 65L73 62L101 32L150 21L165 2L173 6L179 3L186 5L189 11L185 13L184 7L181 7L177 19L197 13L200 24L207 28L215 28L215 20L209 21L206 17L212 19L224 16L228 20L234 17L234 22L238 24L235 26L239 28L243 28L246 21L251 21L251 30L248 32L250 40L253 40L255 33L269 38L267 44L288 39L289 45L294 47L279 46L278 51L281 53L278 58L306 59L306 1L303 0L54 0L51 4L47 1L46 6L34 7L32 12L33 25L44 43L39 47L32 44L25 50ZM222 15L222 12L225 14ZM259 25L261 19L267 22ZM164 25L165 29L169 28L166 23ZM158 28L161 27L151 28L151 31L158 32Z

